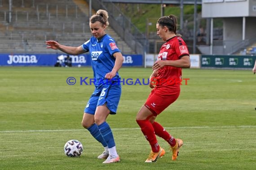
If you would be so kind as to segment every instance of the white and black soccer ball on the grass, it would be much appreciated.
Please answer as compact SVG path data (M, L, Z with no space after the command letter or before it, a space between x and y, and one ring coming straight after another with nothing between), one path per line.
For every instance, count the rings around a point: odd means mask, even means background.
M64 153L68 157L79 157L83 153L83 145L78 140L69 140L64 145Z

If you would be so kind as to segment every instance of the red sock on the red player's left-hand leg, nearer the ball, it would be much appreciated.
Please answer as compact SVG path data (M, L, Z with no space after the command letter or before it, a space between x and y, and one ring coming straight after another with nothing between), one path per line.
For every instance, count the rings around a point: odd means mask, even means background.
M141 127L141 132L146 137L146 140L149 141L152 151L154 153L159 152L160 147L154 135L154 127L152 126L152 123L150 123L149 120L136 120L136 121L138 125Z

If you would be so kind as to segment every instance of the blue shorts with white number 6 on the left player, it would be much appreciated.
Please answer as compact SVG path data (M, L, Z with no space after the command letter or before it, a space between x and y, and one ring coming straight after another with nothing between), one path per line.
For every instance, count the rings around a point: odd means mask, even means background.
M98 93L96 90L90 97L84 108L84 113L95 114L97 106L103 106L106 103L111 115L116 114L117 106L121 97L121 85L104 85Z

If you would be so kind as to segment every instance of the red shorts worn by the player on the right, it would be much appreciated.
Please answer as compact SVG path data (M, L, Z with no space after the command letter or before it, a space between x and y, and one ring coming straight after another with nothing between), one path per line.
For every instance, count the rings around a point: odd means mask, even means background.
M144 106L146 106L154 116L157 116L170 104L175 102L179 95L180 91L173 92L171 94L164 94L162 89L155 88L151 91Z

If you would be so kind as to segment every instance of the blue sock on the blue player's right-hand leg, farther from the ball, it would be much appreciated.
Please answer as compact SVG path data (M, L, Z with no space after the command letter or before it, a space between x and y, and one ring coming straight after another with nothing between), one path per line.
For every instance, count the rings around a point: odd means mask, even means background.
M102 134L103 139L106 141L108 148L114 147L115 140L108 123L103 122L102 124L98 125L98 128Z

